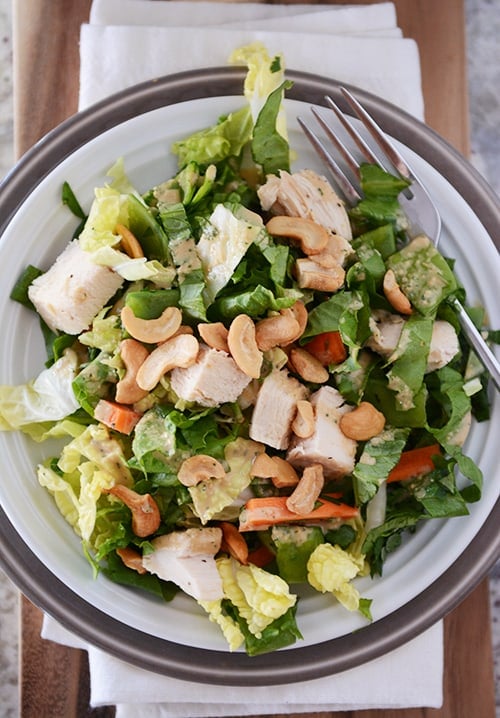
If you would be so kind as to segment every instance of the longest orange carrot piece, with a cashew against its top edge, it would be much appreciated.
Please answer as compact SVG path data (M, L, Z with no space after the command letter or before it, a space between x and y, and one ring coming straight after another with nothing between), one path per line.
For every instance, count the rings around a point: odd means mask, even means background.
M296 514L286 506L286 496L266 496L249 499L240 514L240 531L257 531L276 524L296 521L325 521L334 518L353 518L358 509L347 504L334 504L319 499L319 506L307 514Z

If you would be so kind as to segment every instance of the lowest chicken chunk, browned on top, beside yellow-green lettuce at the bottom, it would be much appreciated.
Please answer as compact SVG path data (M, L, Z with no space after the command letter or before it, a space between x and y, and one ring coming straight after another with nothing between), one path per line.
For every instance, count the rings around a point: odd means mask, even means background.
M197 601L217 601L224 596L214 558L221 541L220 528L174 531L153 539L153 551L143 556L142 565Z

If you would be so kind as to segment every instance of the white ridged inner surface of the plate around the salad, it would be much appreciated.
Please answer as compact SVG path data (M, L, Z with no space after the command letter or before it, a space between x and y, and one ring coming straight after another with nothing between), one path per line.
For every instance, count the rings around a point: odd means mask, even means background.
M334 90L335 87L329 89ZM377 102L374 98L371 101ZM4 329L0 383L25 382L38 374L45 360L36 317L13 303L9 293L12 282L27 264L47 268L72 235L75 218L67 208L62 207L60 201L63 182L70 183L84 209L88 209L94 188L106 181L106 171L118 157L123 157L132 183L140 191L145 191L174 174L175 158L169 152L172 142L202 126L212 124L220 115L237 109L241 104L242 98L238 95L192 99L166 104L130 117L70 152L59 164L49 168L49 173L37 186L32 187L31 193L7 225L0 243L0 265L3 276L8 278L0 286L0 317ZM324 168L295 121L298 114L309 112L308 106L299 100L290 99L286 107L290 142L297 152L294 169L313 167L324 173ZM385 111L383 103L381 107ZM395 112L397 117L397 111L390 112L391 116ZM403 113L401 115L405 124L413 126L413 121ZM419 132L422 131L420 126ZM397 132L395 134L398 136ZM432 138L432 141L438 140ZM461 194L445 179L442 171L434 169L420 156L420 152L403 145L402 149L438 205L443 218L441 248L446 255L456 258L456 272L467 289L469 301L484 305L490 316L495 316L498 310L496 300L500 260L483 223ZM43 151L42 147L42 154ZM28 157L30 161L31 157ZM7 467L0 483L1 506L14 532L38 561L28 553L27 558L21 558L27 565L13 571L12 561L6 555L8 548L4 546L1 553L6 570L14 572L14 580L28 595L30 591L34 593L42 607L82 637L106 650L111 649L111 652L127 660L160 672L206 680L208 670L211 682L238 682L241 666L247 665L250 666L247 678L255 682L262 682L261 668L264 665L267 670L271 666L272 681L268 682L310 677L312 671L316 676L335 672L368 660L411 637L408 629L401 625L403 609L411 608L410 633L414 635L426 628L433 620L441 617L447 608L458 602L495 560L498 541L493 551L491 547L487 551L487 559L483 558L481 571L476 569L471 573L467 568L464 574L464 570L460 570L460 562L463 569L469 566L470 559L465 557L470 547L475 545L475 551L478 552L478 537L484 532L485 526L491 526L492 515L495 513L500 483L495 435L499 411L496 395L491 421L475 424L467 441L466 453L477 461L485 476L482 499L471 505L470 516L428 522L419 528L416 535L405 540L397 552L390 555L384 566L383 578L356 581L361 595L373 599L374 624L371 626L367 626L357 613L345 611L331 597L313 591L304 592L297 614L304 640L299 641L296 647L280 652L280 661L273 657L262 657L247 663L246 656L233 656L230 665L235 666L234 675L223 675L219 669L209 666L208 657L211 651L227 653L226 642L195 601L178 595L171 603L165 604L141 592L118 586L105 577L94 580L91 568L83 557L79 539L36 479L34 467L41 459L52 455L53 447L34 444L26 437L12 433L0 434L0 455L4 467ZM491 528L488 530L491 531ZM6 537L7 533L4 535L5 540ZM9 538L11 542L10 534ZM21 546L19 550L22 553L24 548ZM78 597L83 613L97 617L92 626L87 627L86 620L72 616L64 599L58 599L58 582L52 582L45 573L38 581L32 575L27 578L35 564L38 568L41 564L48 569L69 591L68 596L74 594ZM448 576L447 582L442 580L445 574ZM433 596L436 591L441 607L439 615ZM49 597L44 604L43 596L47 593ZM429 601L433 601L434 605L430 606ZM104 635L104 627L109 624L114 629L111 638ZM384 627L383 637L380 630L374 631L377 625ZM353 631L358 631L357 636L365 635L367 640L366 648L361 643L355 653L345 640ZM155 645L163 645L168 654L171 644L176 644L175 656L179 655L180 646L194 648L197 661L201 661L201 664L193 667L191 651L188 651L189 660L172 658L170 654L165 659L155 660L153 655L144 650L141 641L135 653L128 645L130 637L141 635L158 639L160 643ZM344 641L339 642L338 639L342 637ZM342 649L341 655L332 661L326 651L323 657L321 652L316 653L314 665L309 663L303 666L303 658L300 658L303 649L315 647L317 650L319 644L325 641L337 641ZM288 666L286 674L278 667L284 657ZM204 673L202 678L198 673L200 666Z

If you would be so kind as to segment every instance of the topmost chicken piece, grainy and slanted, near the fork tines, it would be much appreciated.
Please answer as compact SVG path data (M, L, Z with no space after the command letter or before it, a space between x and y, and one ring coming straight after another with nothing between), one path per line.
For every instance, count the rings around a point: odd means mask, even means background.
M261 206L273 214L306 217L321 224L332 234L352 239L351 224L344 202L327 179L313 170L280 176L270 175L258 189Z

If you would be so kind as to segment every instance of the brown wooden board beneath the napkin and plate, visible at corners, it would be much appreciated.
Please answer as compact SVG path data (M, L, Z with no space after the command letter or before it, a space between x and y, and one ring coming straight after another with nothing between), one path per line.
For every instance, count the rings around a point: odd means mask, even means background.
M366 4L374 1L365 0ZM91 3L90 0L16 0L13 4L15 146L19 156L76 111L78 36L80 24L88 20ZM333 0L331 4L342 3ZM395 5L405 36L414 38L419 45L426 121L467 155L463 2L395 0ZM112 716L113 708L91 710L88 706L86 653L40 639L42 614L24 597L21 618L21 718ZM313 715L317 718L494 718L486 580L445 618L444 624L442 709L308 715L311 718Z

